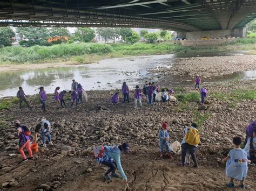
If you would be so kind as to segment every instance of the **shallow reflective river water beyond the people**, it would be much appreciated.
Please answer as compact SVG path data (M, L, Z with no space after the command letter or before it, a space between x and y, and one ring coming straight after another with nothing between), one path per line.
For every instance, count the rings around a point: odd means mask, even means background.
M69 90L71 89L72 79L81 83L85 90L120 89L123 81L126 81L129 87L133 88L138 82L142 83L143 79L152 77L152 81L157 80L157 74L147 74L147 68L164 66L167 62L167 67L171 67L172 64L175 63L175 58L235 54L241 53L214 52L134 56L129 58L107 59L99 61L99 63L76 67L71 66L0 73L0 97L15 96L19 86L23 87L27 95L38 93L38 88L41 86L45 87L46 93L53 93L57 86L59 86L61 90ZM244 77L245 79L256 79L256 71L248 71L245 74L233 74L221 80L234 79L238 76ZM177 79L176 81L182 83L183 79ZM186 81L189 83L188 80Z

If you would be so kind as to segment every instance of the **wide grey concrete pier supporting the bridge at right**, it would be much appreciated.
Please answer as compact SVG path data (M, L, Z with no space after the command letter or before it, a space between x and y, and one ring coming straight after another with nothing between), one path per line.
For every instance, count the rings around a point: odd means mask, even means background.
M210 37L211 39L226 38L227 36L235 38L245 38L247 29L242 27L239 29L232 30L214 30L214 31L191 31L186 32L187 40L198 40L200 37ZM179 34L179 32L177 32ZM180 33L182 34L182 33Z

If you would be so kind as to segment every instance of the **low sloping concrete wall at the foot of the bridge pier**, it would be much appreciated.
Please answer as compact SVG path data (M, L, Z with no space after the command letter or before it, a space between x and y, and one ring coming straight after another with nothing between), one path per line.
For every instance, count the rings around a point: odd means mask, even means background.
M237 38L211 40L178 40L178 43L183 46L214 46L233 41L237 41Z

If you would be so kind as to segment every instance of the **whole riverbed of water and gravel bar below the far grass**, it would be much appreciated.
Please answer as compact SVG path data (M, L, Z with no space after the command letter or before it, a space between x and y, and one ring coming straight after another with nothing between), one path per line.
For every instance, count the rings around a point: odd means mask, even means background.
M46 93L53 93L57 86L69 90L72 79L81 83L85 90L120 89L124 81L130 88L137 84L141 85L145 80L161 83L165 87L190 85L198 72L207 83L238 78L253 80L256 78L255 60L256 55L214 52L132 56L79 66L65 65L42 69L36 67L36 69L2 72L0 97L15 96L19 86L23 87L27 95L36 94L41 86L45 87ZM203 68L201 62L205 62ZM211 65L210 62L213 64ZM223 68L217 73L220 75L216 79L211 73L220 69L220 66ZM202 70L206 72L203 73ZM187 75L188 72L192 75Z

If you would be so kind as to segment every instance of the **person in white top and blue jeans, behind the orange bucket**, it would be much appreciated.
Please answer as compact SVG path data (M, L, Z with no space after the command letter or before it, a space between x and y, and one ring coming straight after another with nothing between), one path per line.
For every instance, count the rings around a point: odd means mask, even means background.
M51 123L49 121L47 121L45 118L42 118L41 123L38 123L36 125L35 143L37 142L38 133L41 135L41 139L42 139L44 147L46 147L46 143L45 143L46 136L48 138L49 144L53 145L53 143L51 142Z

